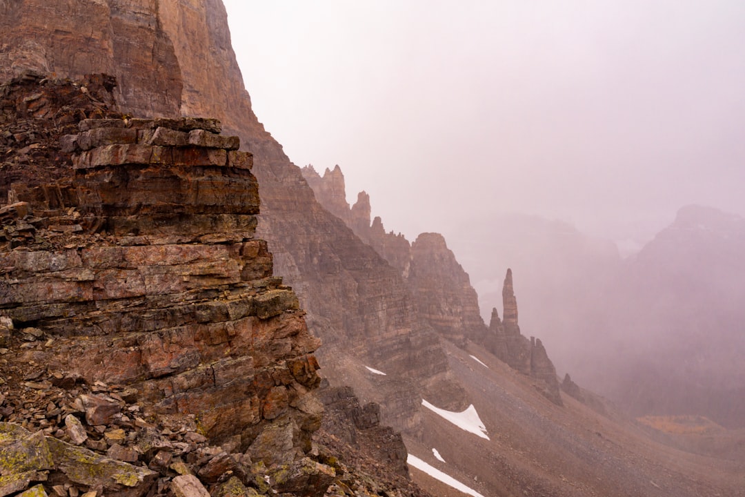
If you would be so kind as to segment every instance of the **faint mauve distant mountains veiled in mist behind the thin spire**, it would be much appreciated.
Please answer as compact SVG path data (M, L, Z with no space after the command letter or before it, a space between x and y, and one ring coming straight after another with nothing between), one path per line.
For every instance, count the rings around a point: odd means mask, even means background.
M559 372L635 415L745 425L741 216L685 206L627 259L609 241L535 216L469 219L459 232L454 250L482 314L500 291L494 262L510 265L520 275L523 322Z

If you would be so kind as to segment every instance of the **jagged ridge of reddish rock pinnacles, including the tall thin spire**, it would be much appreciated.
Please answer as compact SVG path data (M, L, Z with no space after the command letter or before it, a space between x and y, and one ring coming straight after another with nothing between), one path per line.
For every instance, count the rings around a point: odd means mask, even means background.
M518 308L512 270L507 270L502 290L504 321L496 309L487 328L478 306L478 295L469 275L448 249L439 233L422 233L413 244L401 234L385 232L380 218L370 224L370 197L363 191L358 202L346 202L344 176L337 165L323 177L312 166L302 174L320 203L342 219L394 268L408 285L420 320L440 336L465 346L465 341L484 346L501 361L536 379L536 387L551 402L562 405L556 368L540 340L524 337L518 326Z

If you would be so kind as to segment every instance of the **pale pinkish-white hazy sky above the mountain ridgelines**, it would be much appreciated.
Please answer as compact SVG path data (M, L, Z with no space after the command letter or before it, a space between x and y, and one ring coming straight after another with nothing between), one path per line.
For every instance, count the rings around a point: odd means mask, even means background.
M745 214L745 1L225 4L259 121L410 240L474 210L615 239Z

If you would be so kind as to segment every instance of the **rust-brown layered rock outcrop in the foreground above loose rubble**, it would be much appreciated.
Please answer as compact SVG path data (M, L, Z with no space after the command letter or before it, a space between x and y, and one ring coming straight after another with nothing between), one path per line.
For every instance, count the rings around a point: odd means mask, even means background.
M49 338L10 360L131 385L145 415L195 418L210 440L238 435L256 460L286 463L320 425L319 341L254 238L252 157L219 132L214 119L85 119L63 137L66 177L10 187L1 313Z

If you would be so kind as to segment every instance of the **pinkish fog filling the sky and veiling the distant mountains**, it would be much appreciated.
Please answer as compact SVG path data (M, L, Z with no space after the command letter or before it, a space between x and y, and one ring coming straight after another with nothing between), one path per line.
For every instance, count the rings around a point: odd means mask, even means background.
M688 204L745 214L744 2L225 4L293 162L442 232L484 317L513 268L559 373L745 426L745 221L694 209L650 244Z

